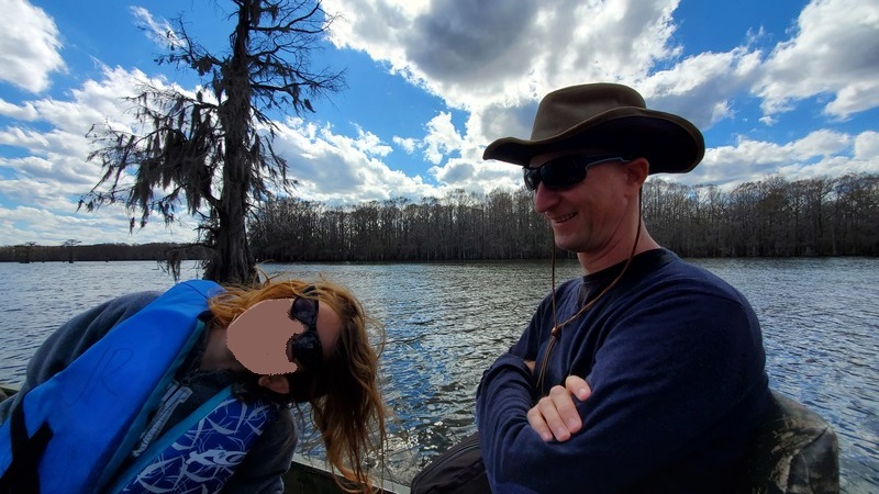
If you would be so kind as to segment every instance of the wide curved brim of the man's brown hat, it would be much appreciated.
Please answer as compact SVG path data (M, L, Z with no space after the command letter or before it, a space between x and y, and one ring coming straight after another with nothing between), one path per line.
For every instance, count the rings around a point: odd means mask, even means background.
M621 106L550 137L500 138L486 148L482 158L528 166L537 155L586 148L647 158L650 173L686 173L705 154L702 133L687 120L671 113Z

